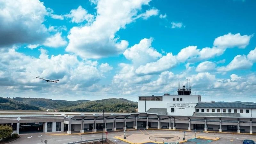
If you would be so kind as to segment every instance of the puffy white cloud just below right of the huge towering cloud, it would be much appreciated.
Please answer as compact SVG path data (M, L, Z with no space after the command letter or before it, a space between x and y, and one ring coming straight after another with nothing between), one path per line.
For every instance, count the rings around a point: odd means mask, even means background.
M132 60L133 64L137 66L157 60L162 56L162 54L151 47L152 41L153 38L144 38L140 40L139 44L134 44L132 47L124 51L125 58Z

